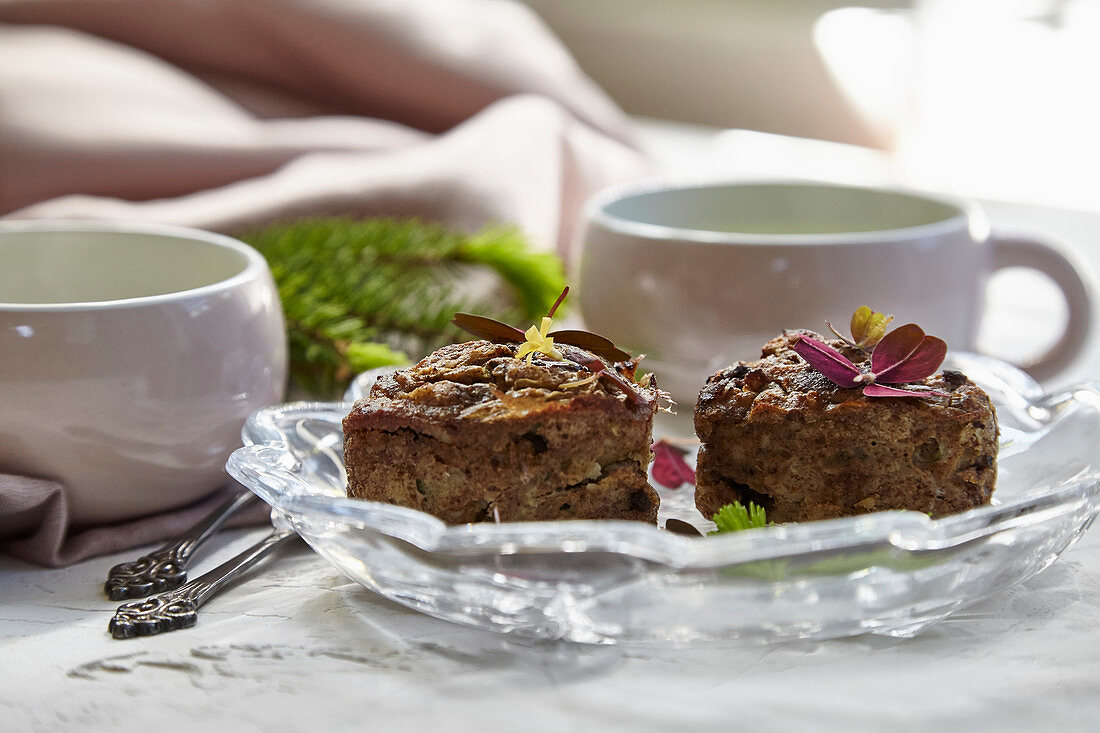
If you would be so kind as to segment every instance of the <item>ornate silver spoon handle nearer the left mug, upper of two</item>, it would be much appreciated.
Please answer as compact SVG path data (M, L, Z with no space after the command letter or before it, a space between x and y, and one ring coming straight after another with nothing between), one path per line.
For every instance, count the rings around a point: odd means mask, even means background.
M107 598L125 601L179 588L187 582L187 565L199 545L209 539L226 519L255 501L258 501L255 494L242 491L164 547L132 562L114 566L103 583Z

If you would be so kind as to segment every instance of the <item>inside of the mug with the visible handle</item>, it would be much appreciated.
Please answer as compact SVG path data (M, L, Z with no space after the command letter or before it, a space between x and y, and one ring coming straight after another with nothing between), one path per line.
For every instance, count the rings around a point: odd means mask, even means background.
M735 236L908 230L963 214L954 204L901 192L795 183L641 190L612 198L601 212L620 227L641 225Z

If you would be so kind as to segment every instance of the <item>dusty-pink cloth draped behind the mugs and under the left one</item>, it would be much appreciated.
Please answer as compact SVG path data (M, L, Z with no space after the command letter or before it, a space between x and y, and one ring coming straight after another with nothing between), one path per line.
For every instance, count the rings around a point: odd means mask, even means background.
M570 259L582 201L649 172L622 112L508 0L0 1L7 218L512 222ZM74 529L63 486L0 474L0 526L33 527L0 541L64 565L218 501Z

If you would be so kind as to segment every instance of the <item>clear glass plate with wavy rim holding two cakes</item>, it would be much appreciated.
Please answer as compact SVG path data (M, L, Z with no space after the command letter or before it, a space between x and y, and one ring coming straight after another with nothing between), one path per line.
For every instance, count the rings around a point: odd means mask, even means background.
M1001 362L952 360L998 407L1000 478L992 505L935 521L880 512L706 538L617 521L449 527L344 496L350 402L257 412L228 469L349 578L439 619L584 643L904 637L1040 572L1100 511L1100 384L1043 394ZM690 488L660 494L662 526L713 527Z

